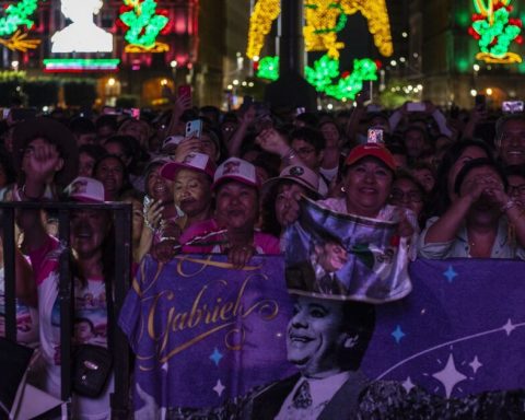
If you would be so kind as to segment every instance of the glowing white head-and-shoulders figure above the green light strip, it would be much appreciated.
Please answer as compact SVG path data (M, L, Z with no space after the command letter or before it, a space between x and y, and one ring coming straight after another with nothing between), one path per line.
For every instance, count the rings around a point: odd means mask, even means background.
M112 52L113 35L96 26L93 14L102 0L61 0L62 14L72 21L51 37L51 52Z

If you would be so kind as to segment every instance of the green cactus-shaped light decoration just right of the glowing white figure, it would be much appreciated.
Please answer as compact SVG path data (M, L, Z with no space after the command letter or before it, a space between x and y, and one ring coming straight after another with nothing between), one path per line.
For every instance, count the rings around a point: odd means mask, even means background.
M170 46L156 40L167 25L167 11L156 11L154 0L124 0L119 20L127 28L125 39L129 43L126 52L164 52ZM120 24L120 26L122 26Z

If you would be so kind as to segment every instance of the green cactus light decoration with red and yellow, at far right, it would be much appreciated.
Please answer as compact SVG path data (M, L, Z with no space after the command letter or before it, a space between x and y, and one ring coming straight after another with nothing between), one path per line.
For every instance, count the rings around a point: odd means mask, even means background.
M487 4L486 4L487 1ZM522 20L510 18L511 0L474 0L476 12L468 33L478 40L479 49L476 59L486 62L512 63L522 62L522 57L510 52L512 42L523 43Z

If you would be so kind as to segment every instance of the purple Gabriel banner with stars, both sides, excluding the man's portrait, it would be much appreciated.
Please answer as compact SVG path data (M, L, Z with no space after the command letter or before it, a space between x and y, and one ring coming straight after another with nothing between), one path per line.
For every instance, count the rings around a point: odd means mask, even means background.
M523 272L500 259L413 262L412 293L376 306L361 371L380 396L360 402L363 418L525 418ZM299 376L287 362L291 306L282 257L244 270L223 256L147 257L119 318L137 354L136 418L243 418L261 389Z

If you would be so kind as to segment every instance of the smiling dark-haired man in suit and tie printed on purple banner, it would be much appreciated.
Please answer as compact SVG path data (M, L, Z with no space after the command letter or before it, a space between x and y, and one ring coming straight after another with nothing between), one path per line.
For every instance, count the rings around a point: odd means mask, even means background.
M351 418L369 385L359 368L374 325L371 304L296 296L287 357L299 372L256 393L246 418Z

